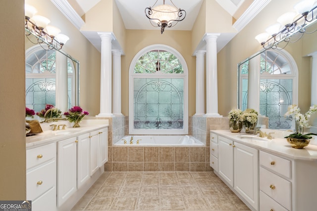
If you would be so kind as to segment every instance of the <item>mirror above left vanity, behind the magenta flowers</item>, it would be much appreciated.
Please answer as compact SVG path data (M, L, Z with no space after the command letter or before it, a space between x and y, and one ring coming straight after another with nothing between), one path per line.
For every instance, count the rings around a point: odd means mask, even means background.
M52 104L65 112L79 105L79 61L30 33L25 49L26 107L39 112Z

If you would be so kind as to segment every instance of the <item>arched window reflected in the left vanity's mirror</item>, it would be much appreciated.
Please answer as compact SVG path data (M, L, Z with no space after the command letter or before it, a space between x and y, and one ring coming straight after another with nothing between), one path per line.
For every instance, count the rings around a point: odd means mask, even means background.
M35 45L25 54L25 101L26 106L36 112L45 108L46 104L55 105L56 51ZM75 86L75 68L67 60L68 108L73 104Z

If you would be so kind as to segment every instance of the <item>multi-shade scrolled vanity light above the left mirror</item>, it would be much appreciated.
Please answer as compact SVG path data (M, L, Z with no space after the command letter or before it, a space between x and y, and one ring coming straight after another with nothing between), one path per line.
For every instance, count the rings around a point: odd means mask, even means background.
M41 15L35 15L37 10L35 7L25 4L25 35L34 35L36 42L34 44L46 43L49 49L60 50L69 38L60 34L60 30L54 26L48 25L50 20ZM42 45L41 45L42 46Z

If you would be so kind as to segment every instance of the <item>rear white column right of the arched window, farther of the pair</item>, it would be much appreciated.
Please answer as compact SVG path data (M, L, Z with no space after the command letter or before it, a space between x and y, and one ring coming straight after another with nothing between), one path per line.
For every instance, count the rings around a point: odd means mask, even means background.
M199 50L196 55L196 114L205 115L205 53Z

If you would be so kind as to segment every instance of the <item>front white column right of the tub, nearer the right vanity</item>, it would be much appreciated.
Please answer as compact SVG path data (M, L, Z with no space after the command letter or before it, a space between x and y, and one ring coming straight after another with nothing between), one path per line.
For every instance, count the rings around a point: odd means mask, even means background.
M218 114L217 84L217 38L220 34L206 34L206 116L222 117Z

